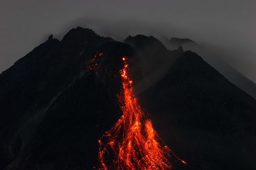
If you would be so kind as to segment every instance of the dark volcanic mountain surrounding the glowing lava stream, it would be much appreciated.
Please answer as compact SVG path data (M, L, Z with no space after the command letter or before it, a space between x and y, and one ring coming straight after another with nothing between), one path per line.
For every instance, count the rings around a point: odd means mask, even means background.
M172 155L173 169L256 168L249 94L182 47L144 35L117 42L80 27L61 41L51 35L0 75L0 168L100 168L99 140L123 113L124 56L145 117L187 162ZM103 59L92 65L95 57Z

